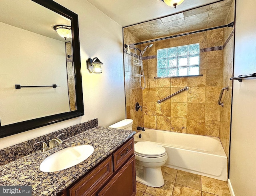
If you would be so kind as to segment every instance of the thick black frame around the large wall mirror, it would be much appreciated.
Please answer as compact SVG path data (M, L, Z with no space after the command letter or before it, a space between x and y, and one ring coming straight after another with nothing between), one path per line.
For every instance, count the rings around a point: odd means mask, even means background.
M23 122L17 122L14 124L8 124L4 126L0 125L0 138L84 115L78 15L52 0L43 0L43 1L32 0L32 1L71 20L77 110L55 114L51 116L45 116L42 118L35 118L32 120L26 120Z

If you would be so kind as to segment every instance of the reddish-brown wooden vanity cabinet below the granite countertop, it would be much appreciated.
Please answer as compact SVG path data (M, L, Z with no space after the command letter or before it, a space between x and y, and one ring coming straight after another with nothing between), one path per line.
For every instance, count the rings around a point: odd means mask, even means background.
M134 196L135 194L135 157L132 138L58 196Z

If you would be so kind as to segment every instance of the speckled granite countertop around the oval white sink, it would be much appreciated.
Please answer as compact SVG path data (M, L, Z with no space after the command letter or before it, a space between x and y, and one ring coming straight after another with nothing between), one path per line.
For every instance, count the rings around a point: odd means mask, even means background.
M56 196L94 166L132 138L136 132L106 127L95 127L63 140L46 152L37 151L0 166L1 186L32 186L32 195ZM40 163L49 155L66 147L89 144L94 153L85 161L71 168L58 172L41 172Z

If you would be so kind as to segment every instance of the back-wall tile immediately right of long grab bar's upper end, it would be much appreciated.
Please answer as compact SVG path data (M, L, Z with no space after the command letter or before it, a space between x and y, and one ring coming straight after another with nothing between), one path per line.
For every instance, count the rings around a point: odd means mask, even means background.
M205 87L189 87L188 103L204 103Z

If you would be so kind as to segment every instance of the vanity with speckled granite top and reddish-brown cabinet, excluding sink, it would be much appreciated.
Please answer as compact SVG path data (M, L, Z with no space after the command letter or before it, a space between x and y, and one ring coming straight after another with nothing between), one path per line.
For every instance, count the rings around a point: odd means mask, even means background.
M33 196L135 195L135 133L98 126L91 128L63 140L51 150L39 150L0 166L0 185L32 186ZM40 163L46 157L80 144L94 147L89 158L65 170L40 171Z

